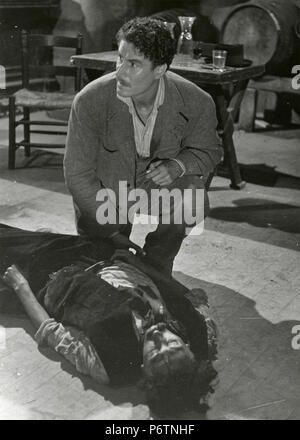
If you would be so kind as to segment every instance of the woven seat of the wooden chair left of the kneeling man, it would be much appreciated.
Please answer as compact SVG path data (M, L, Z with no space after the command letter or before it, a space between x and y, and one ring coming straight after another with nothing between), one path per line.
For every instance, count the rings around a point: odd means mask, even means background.
M39 92L20 89L14 93L16 105L39 109L71 108L75 93Z

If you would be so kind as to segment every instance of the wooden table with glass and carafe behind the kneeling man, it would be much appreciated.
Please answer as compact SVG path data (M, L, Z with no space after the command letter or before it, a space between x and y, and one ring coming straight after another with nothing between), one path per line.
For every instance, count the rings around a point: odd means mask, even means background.
M85 69L96 69L111 72L115 69L117 52L100 52L84 55L74 55L71 63ZM175 56L171 70L187 78L207 90L213 97L219 121L218 131L222 137L224 161L219 171L229 173L231 187L242 189L242 181L233 143L234 121L238 115L241 102L250 79L264 74L265 66L250 66L242 68L227 67L225 71L213 70L209 64L197 60L186 62Z

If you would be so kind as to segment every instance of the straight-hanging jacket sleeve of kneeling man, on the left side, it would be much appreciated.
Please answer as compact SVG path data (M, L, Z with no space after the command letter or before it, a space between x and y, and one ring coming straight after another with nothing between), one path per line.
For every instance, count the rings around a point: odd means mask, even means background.
M100 104L99 104L100 105ZM97 222L97 193L104 186L97 176L97 151L101 144L101 123L88 95L76 95L69 118L64 175L73 197L80 226L90 236L107 237L118 230L116 225Z

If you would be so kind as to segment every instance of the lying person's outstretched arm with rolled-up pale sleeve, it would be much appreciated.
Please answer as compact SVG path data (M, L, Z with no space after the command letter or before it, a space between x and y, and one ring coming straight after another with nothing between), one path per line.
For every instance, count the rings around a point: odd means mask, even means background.
M68 328L50 318L37 301L26 278L16 266L7 269L4 281L14 289L35 330L39 345L47 345L71 362L79 373L102 384L109 383L105 368L89 339L80 331Z

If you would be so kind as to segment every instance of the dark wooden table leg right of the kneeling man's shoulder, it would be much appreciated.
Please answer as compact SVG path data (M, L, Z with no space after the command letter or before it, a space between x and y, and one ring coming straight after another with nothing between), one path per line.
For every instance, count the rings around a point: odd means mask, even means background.
M218 87L214 96L219 130L223 140L224 167L228 168L231 178L230 186L233 189L242 189L246 184L241 178L232 137L234 133L234 120L239 111L246 88L246 81L239 82L230 93L230 99L226 100L225 95L228 90L225 90L224 87Z

